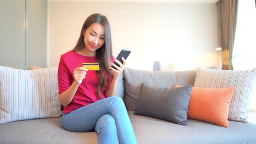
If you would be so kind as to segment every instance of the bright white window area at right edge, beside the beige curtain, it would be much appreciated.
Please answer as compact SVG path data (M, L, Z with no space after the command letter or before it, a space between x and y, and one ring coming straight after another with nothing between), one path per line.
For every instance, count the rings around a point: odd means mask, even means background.
M234 69L256 68L256 8L254 0L238 2L232 63ZM254 86L249 111L249 122L256 124L256 85Z

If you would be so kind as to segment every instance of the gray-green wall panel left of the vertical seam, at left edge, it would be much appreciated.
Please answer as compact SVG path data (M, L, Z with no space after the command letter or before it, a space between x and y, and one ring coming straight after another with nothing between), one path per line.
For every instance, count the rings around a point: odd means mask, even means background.
M0 17L0 65L25 69L25 1L1 1Z

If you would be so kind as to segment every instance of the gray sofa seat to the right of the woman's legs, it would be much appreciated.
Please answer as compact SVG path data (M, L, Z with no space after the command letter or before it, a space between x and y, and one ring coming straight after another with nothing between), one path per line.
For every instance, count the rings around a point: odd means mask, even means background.
M256 143L256 125L229 121L229 127L188 119L179 125L152 117L129 116L138 143ZM149 138L150 137L150 138Z

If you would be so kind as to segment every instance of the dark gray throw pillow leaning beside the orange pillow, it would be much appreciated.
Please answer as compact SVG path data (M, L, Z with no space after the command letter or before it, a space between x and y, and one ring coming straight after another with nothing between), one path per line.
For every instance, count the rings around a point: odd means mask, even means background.
M192 85L177 88L156 88L142 83L134 114L187 125L191 91Z

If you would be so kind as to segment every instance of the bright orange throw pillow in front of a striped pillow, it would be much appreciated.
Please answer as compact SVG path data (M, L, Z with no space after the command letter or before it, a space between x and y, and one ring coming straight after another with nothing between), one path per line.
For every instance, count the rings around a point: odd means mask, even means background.
M181 86L175 85L174 87ZM188 118L213 123L220 127L229 127L229 105L234 91L235 87L193 87L188 107Z

